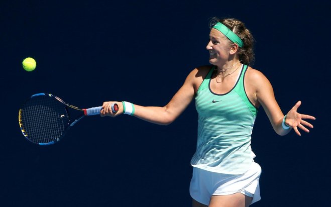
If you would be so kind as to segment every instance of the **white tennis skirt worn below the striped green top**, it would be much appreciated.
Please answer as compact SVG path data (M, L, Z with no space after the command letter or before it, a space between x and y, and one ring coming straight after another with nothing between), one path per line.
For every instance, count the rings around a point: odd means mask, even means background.
M261 167L255 162L247 172L240 175L209 172L193 167L190 194L194 200L204 205L209 204L212 195L230 195L237 192L253 197L254 203L261 199L260 175Z

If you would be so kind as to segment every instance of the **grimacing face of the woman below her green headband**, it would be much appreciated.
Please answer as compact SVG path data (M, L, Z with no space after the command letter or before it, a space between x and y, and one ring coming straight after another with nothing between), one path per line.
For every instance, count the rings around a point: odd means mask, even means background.
M224 64L230 55L228 38L216 29L211 29L206 49L209 51L209 63L213 65Z

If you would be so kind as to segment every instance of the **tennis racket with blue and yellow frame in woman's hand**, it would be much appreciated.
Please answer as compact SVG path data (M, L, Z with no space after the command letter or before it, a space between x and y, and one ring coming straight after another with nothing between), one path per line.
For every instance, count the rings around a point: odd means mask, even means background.
M78 111L74 119L69 109ZM99 115L102 107L79 109L49 93L37 93L24 102L19 110L19 124L22 134L29 141L39 145L51 145L60 141L65 133L86 116ZM119 110L113 104L112 111ZM72 110L70 110L72 111Z

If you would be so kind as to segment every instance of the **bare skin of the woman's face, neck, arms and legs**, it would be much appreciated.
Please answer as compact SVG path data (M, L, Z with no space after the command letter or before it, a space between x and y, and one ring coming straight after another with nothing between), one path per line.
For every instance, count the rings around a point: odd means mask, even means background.
M206 46L206 49L209 51L209 63L217 66L216 73L211 77L210 89L214 93L224 94L234 87L237 77L241 72L241 64L237 57L239 46L236 43L232 43L226 36L215 29L211 29L209 38L210 41ZM143 107L134 105L134 116L154 124L171 124L193 100L198 87L210 68L211 66L202 66L193 69L186 77L181 88L164 107ZM300 107L301 101L298 101L286 116L285 124L291 128L288 130L283 129L282 122L284 114L277 104L271 83L260 71L249 67L245 74L244 84L250 101L256 108L260 106L263 107L277 134L283 136L293 129L297 135L301 136L299 129L304 132L309 132L306 127L313 128L313 126L304 119L315 120L315 118L309 115L299 114L297 109ZM119 111L117 113L113 113L111 110L111 106L114 103L119 105ZM122 102L106 101L103 102L102 108L100 112L102 117L116 117L123 114ZM251 201L251 197L241 193L215 195L211 196L209 206L249 206ZM193 200L192 206L200 207L206 205Z

